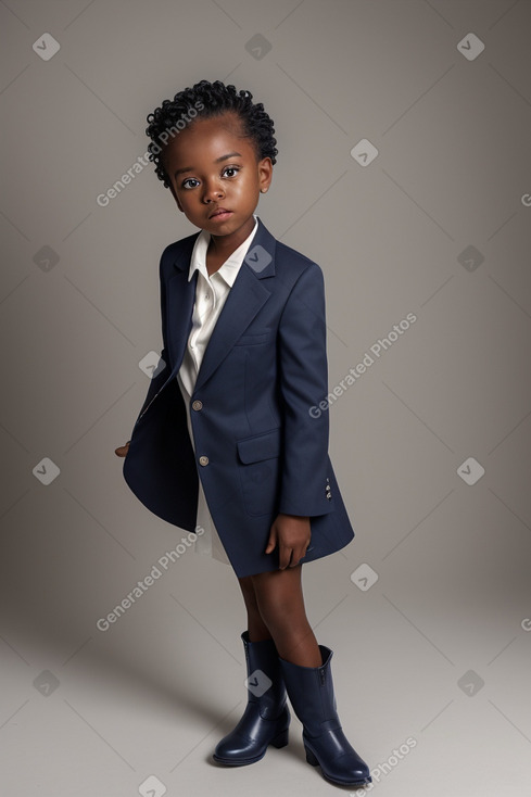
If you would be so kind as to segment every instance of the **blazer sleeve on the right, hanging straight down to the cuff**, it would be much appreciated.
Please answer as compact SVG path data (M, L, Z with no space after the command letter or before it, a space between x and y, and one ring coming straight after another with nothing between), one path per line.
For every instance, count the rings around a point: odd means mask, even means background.
M282 405L282 469L279 513L316 516L332 510L327 499L328 394L325 282L312 263L286 302L278 328Z

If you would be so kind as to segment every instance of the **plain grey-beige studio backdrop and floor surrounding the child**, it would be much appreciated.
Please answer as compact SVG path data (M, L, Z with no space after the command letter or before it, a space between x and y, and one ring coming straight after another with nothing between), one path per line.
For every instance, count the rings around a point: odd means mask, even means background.
M253 767L210 760L245 699L225 565L187 552L97 628L181 536L114 448L161 350L160 254L193 231L151 164L97 197L150 111L219 78L275 119L258 214L325 273L330 390L417 318L330 408L356 537L304 584L345 732L382 796L528 794L531 2L7 0L0 25L5 793L334 788L295 719Z

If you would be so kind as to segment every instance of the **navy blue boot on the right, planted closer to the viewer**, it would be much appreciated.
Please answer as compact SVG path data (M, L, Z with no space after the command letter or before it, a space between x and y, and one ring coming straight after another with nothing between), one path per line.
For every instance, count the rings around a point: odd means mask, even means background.
M330 660L332 650L319 645L320 667L301 667L279 658L286 688L303 724L306 761L341 786L371 783L369 768L346 739L336 710Z

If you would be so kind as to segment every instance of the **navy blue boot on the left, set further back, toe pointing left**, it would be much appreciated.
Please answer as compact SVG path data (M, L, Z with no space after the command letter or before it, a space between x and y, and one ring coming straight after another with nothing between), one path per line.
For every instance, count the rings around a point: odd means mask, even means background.
M277 648L273 640L250 642L248 631L241 634L248 668L248 705L242 718L217 744L213 758L219 763L242 767L264 758L268 745L285 747L291 714L286 699ZM273 683L263 692L268 681ZM262 694L263 692L263 694Z

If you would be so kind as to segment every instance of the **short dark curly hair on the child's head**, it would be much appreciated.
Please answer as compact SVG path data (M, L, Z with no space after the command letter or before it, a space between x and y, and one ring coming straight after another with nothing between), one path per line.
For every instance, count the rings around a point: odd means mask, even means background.
M177 92L173 100L164 100L161 107L148 115L149 126L146 134L151 138L148 157L155 164L156 176L166 188L170 184L161 153L170 138L175 138L199 117L211 118L227 112L236 113L243 135L253 140L258 160L270 157L273 164L277 162L273 119L265 112L262 102L253 103L250 91L237 91L232 85L225 86L220 80L200 80L191 88Z

